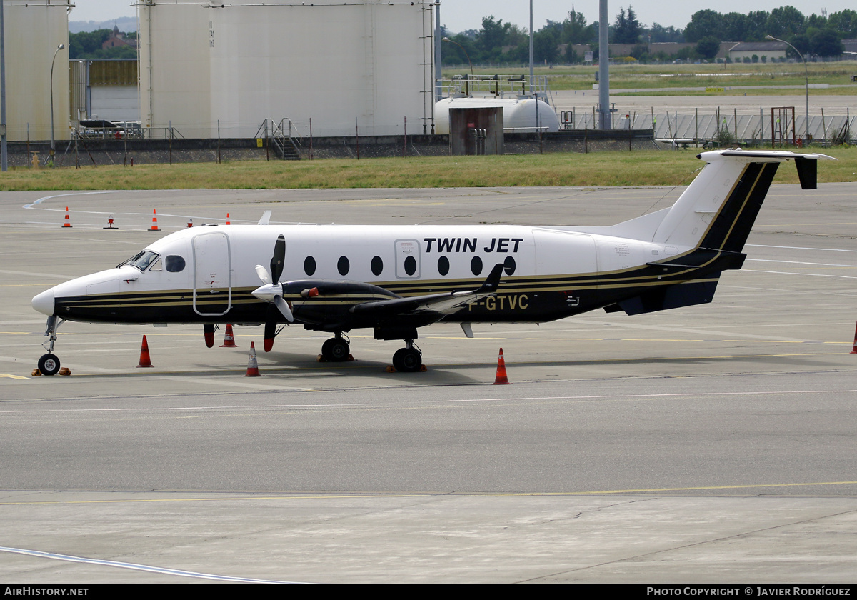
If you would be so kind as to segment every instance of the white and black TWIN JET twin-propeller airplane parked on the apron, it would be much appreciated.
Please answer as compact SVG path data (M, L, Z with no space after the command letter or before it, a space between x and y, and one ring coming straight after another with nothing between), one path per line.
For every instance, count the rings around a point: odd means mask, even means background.
M329 361L352 329L403 339L399 371L417 371L417 328L439 321L540 322L593 309L638 315L708 303L720 274L740 269L753 221L781 162L815 189L824 154L719 150L674 205L619 225L211 225L177 231L116 268L33 298L48 316L45 375L63 321L264 325L266 351L293 323L333 333ZM263 266L263 265L267 265ZM261 282L261 285L260 285Z

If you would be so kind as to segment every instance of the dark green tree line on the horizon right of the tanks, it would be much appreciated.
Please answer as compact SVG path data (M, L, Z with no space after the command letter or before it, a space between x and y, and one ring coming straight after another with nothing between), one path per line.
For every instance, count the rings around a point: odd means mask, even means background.
M628 6L620 9L609 27L610 43L635 45L631 55L643 61L668 58L650 53L650 43L689 42L695 47L685 49L678 57L712 59L721 42L764 41L766 35L787 40L805 55L836 56L842 54L842 39L857 38L857 11L844 9L830 15L806 16L793 6L770 12L754 10L746 15L703 9L680 29L658 23L645 27ZM494 15L482 18L481 29L451 34L444 27L443 36L455 42L443 48L444 65L467 64L468 57L471 63L520 64L530 57L526 28L504 23ZM564 21L548 20L533 35L537 63L582 62L584 57L572 50L573 45L589 45L597 58L598 21L588 23L583 14L573 9ZM565 55L561 53L564 47ZM793 53L791 49L789 53Z

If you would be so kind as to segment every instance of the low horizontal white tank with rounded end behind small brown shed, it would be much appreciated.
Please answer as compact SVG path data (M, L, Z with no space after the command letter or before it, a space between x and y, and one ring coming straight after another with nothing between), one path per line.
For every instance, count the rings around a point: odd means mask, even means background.
M449 133L450 108L482 108L499 106L503 109L503 130L507 134L559 131L560 119L554 109L542 99L534 98L444 98L434 105L434 133Z

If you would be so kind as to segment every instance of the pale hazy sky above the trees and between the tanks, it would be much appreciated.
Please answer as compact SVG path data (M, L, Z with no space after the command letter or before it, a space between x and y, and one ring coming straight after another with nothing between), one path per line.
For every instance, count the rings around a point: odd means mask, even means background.
M275 0L276 1L276 0ZM290 0L282 0L289 2ZM294 2L295 0L291 0ZM326 2L327 0L321 0ZM69 21L109 21L120 16L135 16L135 8L130 0L73 0L76 7L69 15ZM567 12L574 8L583 13L587 22L598 18L598 1L569 2L569 0L533 0L533 23L538 31L548 19L563 21ZM716 3L693 3L686 0L639 0L636 3L611 2L608 4L610 21L621 8L630 5L637 13L637 19L646 27L660 23L663 27L683 29L697 10L710 8L719 13L746 12L746 10L769 10L791 5L804 15L821 14L826 8L828 14L842 9L854 9L854 0L752 0L748 6L746 0L719 0ZM482 27L482 17L494 15L504 22L519 27L530 26L529 0L441 0L440 21L452 32Z

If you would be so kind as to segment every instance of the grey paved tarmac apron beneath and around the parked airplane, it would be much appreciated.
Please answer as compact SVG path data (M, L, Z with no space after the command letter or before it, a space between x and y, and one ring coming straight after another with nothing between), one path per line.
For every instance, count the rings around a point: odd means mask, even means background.
M264 210L610 225L679 194L4 192L0 579L853 582L857 183L775 185L709 305L475 339L432 326L426 373L385 372L400 343L371 332L331 364L327 335L289 327L246 378L261 327L207 349L201 327L69 322L72 375L30 375L45 339L30 298L164 235L153 208L165 233ZM153 369L136 368L144 333ZM511 386L490 385L500 347Z

